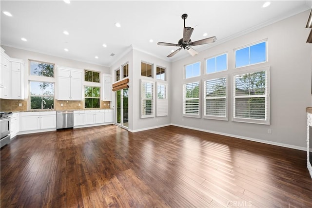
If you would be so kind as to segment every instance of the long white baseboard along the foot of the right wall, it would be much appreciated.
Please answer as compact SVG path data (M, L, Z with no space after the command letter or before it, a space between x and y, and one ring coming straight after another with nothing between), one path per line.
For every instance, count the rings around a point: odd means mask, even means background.
M284 143L279 143L279 142L272 142L272 141L267 141L267 140L262 140L262 139L255 139L255 138L251 138L251 137L234 135L234 134L230 134L230 133L214 132L214 131L209 131L209 130L205 130L205 129L198 129L198 128L193 128L193 127L178 125L178 124L171 124L171 125L182 127L182 128L186 128L186 129L197 130L197 131L200 131L200 132L215 133L215 134L219 134L219 135L223 135L223 136L235 137L235 138L238 138L238 139L245 139L245 140L254 141L254 142L260 142L260 143L269 144L269 145L275 145L275 146L286 147L286 148L291 148L291 149L295 149L295 150L307 151L306 147L289 145L289 144L284 144Z

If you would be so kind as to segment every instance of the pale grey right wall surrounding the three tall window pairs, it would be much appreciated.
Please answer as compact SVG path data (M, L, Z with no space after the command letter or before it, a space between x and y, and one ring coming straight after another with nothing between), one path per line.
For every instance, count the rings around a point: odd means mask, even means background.
M311 106L311 45L306 43L309 30L305 28L309 11L284 19L247 35L216 45L172 63L171 121L208 132L235 135L240 138L262 140L267 143L306 148L306 112ZM228 53L230 77L241 69L233 69L233 49L259 40L268 39L268 62L252 66L271 67L271 124L259 125L233 122L232 97L229 98L229 121L183 117L183 70L184 65L201 61L201 74L205 72L205 58ZM201 76L202 78L203 76ZM232 81L232 80L230 80ZM230 82L232 95L232 82ZM202 104L202 103L201 103ZM203 114L203 113L202 113ZM272 134L268 134L272 129Z

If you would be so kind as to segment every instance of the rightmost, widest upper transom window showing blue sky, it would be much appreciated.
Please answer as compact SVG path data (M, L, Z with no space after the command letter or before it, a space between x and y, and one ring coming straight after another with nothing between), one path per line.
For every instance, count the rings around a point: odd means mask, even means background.
M267 41L235 50L235 68L267 61Z

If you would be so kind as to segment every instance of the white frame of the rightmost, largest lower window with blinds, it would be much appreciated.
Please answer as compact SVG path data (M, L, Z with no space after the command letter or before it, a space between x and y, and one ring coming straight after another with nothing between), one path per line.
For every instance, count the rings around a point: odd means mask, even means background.
M266 71L266 89L265 89L265 95L235 95L235 76L238 75L244 75L244 74L251 74L256 72ZM270 67L263 67L253 70L246 70L234 73L232 75L232 81L233 81L233 115L232 115L232 121L237 122L245 122L245 123L254 123L254 124L265 124L270 125ZM255 119L255 118L239 118L235 117L235 98L238 97L265 97L265 119Z

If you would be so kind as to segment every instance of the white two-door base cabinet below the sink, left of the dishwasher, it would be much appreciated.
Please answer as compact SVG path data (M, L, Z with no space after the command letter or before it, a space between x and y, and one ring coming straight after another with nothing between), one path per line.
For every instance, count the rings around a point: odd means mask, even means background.
M56 128L56 111L49 112L22 112L20 131Z

